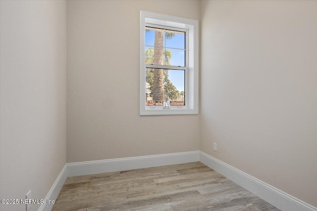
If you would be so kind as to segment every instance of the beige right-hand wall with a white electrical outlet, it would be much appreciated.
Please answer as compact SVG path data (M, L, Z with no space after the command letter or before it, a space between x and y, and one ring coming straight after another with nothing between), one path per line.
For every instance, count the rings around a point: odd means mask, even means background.
M200 149L317 207L317 1L204 1L201 43Z

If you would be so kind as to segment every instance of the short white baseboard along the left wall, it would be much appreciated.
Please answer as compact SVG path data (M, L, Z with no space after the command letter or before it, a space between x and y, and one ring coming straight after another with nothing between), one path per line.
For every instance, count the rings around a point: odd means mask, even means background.
M60 171L59 175L57 176L52 188L50 189L49 193L46 195L44 202L47 203L48 200L56 201L57 196L64 185L65 180L67 179L67 164L64 168ZM51 211L54 204L42 204L38 211Z

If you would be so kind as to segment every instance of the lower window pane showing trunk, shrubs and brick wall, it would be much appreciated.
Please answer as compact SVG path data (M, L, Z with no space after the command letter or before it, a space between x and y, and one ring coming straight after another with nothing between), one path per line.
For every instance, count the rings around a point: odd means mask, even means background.
M162 106L167 98L170 106L185 105L185 70L147 68L146 105Z

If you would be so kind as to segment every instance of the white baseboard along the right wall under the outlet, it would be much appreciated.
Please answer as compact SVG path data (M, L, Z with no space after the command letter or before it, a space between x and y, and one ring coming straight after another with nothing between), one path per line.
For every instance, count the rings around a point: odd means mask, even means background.
M210 155L200 152L200 162L217 171L251 193L259 196L264 201L281 211L317 211L309 205L273 186L239 170Z

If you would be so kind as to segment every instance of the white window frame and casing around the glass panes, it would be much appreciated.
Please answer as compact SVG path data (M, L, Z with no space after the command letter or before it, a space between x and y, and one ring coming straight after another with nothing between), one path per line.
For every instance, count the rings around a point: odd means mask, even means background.
M186 33L186 67L145 64L145 27L162 27ZM140 115L198 114L199 108L199 29L198 21L140 11ZM185 70L185 106L146 106L146 68Z

